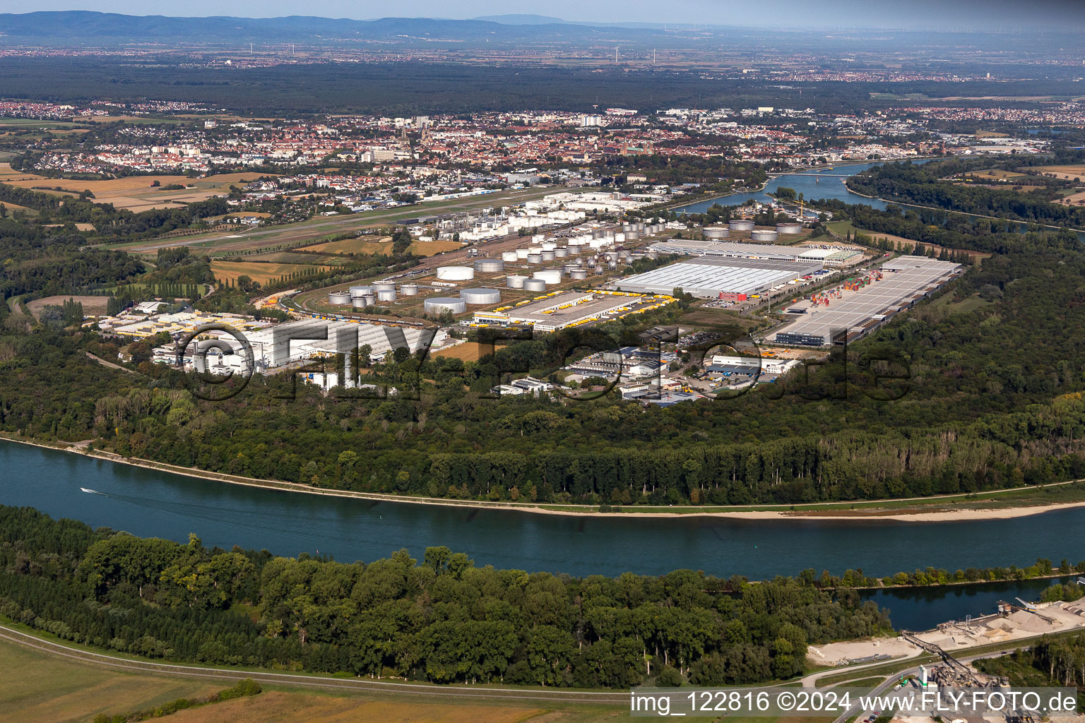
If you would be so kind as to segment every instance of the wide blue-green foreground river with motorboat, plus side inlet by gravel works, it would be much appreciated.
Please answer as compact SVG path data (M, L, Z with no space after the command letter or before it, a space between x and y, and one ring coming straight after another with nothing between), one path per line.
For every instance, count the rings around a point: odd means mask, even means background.
M8 441L0 441L0 504L141 537L184 541L195 532L208 546L320 553L343 561L403 547L420 558L426 546L447 545L476 565L528 571L617 576L691 568L766 579L805 568L890 574L928 566L1026 566L1037 557L1058 564L1062 557L1076 561L1085 548L1085 508L937 524L571 517L242 487ZM898 627L922 629L991 612L998 597L1035 598L1047 584L1014 583L984 594L987 586L870 595L898 612Z

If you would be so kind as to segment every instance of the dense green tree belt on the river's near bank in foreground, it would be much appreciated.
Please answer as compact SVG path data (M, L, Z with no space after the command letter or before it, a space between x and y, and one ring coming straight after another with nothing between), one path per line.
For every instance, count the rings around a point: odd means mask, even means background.
M703 572L572 578L427 547L343 564L140 539L0 507L0 615L167 660L436 683L629 687L803 672L806 646L884 633L854 591Z

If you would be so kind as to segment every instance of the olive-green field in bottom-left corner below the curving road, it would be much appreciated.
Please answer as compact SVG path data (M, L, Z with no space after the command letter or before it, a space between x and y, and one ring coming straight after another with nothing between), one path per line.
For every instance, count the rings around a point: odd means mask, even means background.
M103 670L0 642L7 674L0 680L0 723L85 723L98 713L120 713L227 687L201 681Z

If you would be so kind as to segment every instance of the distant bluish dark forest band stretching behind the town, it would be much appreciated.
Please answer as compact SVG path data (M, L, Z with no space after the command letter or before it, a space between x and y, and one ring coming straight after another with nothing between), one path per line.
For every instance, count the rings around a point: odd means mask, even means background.
M662 46L661 46L662 48ZM842 51L843 52L843 51ZM701 77L697 72L618 67L565 68L531 64L367 62L219 68L181 55L146 63L107 57L4 57L0 76L11 98L89 102L148 98L206 103L237 113L417 115L621 106L654 113L666 107L812 107L861 114L894 106L871 98L881 82L826 81L795 90L771 81ZM947 66L952 67L952 65ZM1049 70L1056 72L1055 69ZM960 95L1065 94L1062 79L954 83ZM894 83L894 93L941 96L937 81ZM802 105L799 105L799 103ZM979 101L995 105L996 101Z

